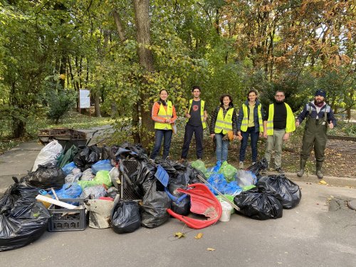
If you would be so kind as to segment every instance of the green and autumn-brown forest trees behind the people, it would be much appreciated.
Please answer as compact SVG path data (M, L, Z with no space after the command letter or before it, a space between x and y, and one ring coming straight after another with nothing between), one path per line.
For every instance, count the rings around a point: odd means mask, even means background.
M284 90L296 112L323 88L350 117L355 23L338 0L0 0L0 128L22 137L43 110L58 122L81 88L143 145L162 88L179 115L192 85L209 111L256 88L265 105Z

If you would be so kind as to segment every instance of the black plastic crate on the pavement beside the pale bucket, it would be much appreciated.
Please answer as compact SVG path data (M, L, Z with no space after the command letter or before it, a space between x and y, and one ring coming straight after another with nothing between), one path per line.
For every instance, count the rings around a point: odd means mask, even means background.
M48 231L78 231L84 230L87 226L87 218L84 206L84 199L60 199L69 204L77 202L79 209L66 209L52 204L49 208L51 215L48 220Z

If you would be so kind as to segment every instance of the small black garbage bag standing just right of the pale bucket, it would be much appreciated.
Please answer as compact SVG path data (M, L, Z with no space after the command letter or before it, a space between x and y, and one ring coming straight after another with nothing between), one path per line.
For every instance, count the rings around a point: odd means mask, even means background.
M132 200L117 201L110 219L111 228L115 233L132 233L141 226L140 206Z

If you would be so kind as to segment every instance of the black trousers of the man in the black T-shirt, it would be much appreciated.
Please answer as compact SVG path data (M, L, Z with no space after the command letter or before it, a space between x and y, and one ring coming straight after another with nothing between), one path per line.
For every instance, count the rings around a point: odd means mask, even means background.
M184 142L182 148L182 159L187 159L189 145L192 141L193 133L195 135L195 145L197 147L197 158L203 157L203 126L185 125Z

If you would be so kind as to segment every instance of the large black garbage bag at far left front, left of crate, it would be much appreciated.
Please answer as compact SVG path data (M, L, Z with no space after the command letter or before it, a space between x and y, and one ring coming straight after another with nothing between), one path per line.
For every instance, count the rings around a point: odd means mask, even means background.
M49 217L41 202L16 201L12 209L0 213L0 251L20 248L38 239L46 231Z

